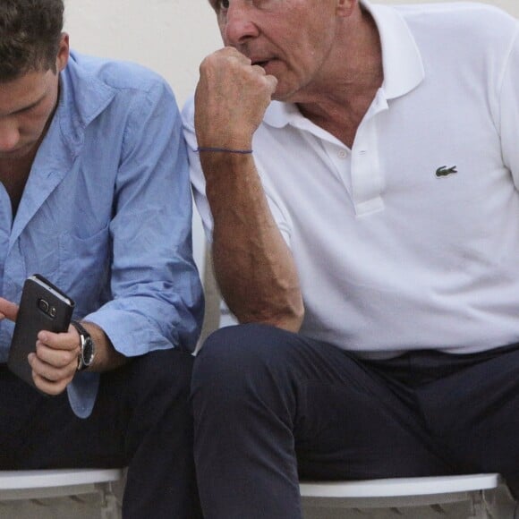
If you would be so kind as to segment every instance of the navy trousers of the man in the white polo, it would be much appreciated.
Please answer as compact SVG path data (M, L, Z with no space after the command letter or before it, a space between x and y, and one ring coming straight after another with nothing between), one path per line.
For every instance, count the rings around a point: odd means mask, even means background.
M362 361L264 325L222 328L196 361L206 519L299 519L299 479L500 472L519 490L519 345Z

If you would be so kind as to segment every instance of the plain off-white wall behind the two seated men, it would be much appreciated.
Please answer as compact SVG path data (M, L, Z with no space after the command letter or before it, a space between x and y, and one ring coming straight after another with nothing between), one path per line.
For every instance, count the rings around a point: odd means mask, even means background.
M519 0L488 2L519 17ZM220 46L207 0L65 0L65 5L72 47L148 65L166 77L180 104L196 84L203 56Z

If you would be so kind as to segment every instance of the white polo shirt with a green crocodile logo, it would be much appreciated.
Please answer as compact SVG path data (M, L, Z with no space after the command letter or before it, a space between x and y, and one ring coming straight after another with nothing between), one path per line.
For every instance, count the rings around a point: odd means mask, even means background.
M302 334L367 357L515 343L519 25L484 4L362 4L385 79L352 149L279 102L253 140L297 264ZM210 235L192 100L183 115Z

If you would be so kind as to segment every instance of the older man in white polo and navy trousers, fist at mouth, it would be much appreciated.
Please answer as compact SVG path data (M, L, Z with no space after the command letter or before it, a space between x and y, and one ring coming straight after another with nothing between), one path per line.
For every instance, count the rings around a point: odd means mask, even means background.
M517 21L211 4L226 47L184 120L242 324L195 362L204 511L299 518L298 476L501 472L519 491Z

